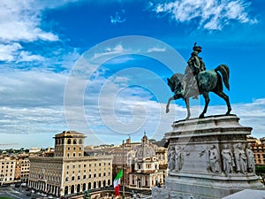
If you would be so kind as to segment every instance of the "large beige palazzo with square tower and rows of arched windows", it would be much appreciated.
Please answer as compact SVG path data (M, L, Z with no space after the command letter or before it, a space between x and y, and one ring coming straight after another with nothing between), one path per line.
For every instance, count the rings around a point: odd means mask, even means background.
M72 195L112 185L112 157L84 156L85 135L55 135L54 157L31 157L28 185L53 195Z

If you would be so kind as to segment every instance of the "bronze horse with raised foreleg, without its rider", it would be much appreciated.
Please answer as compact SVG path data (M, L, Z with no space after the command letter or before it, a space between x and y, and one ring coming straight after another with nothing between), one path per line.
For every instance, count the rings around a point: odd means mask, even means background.
M222 74L223 79L220 73ZM187 92L186 94L183 94L182 79L184 75L181 73L173 74L170 77L170 79L167 79L168 85L170 86L171 91L174 92L174 96L171 96L169 98L167 106L166 106L166 112L168 113L170 111L169 106L172 100L178 100L182 98L185 100L185 103L186 103L186 109L187 109L186 119L189 119L191 116L189 98L192 96L193 97L196 96L196 92L197 92L197 94L202 95L205 99L204 109L201 112L201 115L199 117L199 118L204 118L204 114L207 112L208 103L210 101L208 97L208 93L214 92L217 96L220 96L225 101L227 105L227 112L225 114L229 115L231 112L231 104L229 101L229 97L223 93L223 83L225 87L228 90L230 90L229 76L230 76L230 70L227 65L219 65L214 70L202 71L197 76L198 88L190 88L189 92Z

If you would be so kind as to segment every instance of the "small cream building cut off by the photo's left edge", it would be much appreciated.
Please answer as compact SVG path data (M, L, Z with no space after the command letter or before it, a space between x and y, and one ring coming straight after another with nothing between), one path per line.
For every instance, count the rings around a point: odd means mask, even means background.
M15 180L16 160L11 157L0 159L0 185L13 183Z

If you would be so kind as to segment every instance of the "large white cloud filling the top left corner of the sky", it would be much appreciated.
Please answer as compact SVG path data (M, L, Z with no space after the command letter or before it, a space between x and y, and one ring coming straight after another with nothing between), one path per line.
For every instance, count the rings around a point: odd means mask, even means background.
M56 34L41 29L42 4L33 0L0 2L0 38L5 42L57 41Z

